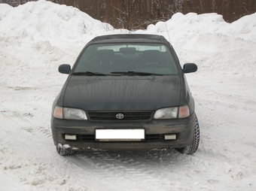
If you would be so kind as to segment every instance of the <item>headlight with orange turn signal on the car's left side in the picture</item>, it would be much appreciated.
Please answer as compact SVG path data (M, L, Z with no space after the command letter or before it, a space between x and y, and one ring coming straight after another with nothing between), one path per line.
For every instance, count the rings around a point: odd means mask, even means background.
M76 108L62 108L55 106L53 117L63 120L87 120L87 115L81 109Z

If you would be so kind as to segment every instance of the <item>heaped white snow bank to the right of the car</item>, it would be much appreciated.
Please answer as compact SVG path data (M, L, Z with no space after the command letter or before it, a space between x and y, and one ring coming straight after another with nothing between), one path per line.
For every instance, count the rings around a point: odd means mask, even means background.
M196 62L202 75L255 76L256 13L233 23L219 14L178 13L136 33L163 35L181 64Z

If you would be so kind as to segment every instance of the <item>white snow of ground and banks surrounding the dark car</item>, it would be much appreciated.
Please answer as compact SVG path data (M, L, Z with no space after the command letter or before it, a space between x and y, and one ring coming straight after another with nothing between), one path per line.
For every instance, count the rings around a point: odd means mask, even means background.
M0 4L1 190L256 190L256 14L226 23L218 14L175 14L145 31L170 40L196 101L197 153L94 151L62 157L50 131L53 99L97 35L113 29L76 8Z

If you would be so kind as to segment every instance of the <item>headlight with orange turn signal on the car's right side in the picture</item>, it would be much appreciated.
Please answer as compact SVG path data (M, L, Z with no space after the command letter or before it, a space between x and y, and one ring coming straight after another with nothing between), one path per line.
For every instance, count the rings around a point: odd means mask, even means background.
M156 111L154 119L181 119L190 116L190 110L187 105L173 108L163 108Z

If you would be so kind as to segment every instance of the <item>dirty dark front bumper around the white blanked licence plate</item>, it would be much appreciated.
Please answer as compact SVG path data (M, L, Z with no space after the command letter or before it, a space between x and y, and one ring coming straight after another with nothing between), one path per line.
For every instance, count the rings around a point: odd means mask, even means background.
M77 150L151 150L180 148L194 140L195 114L184 119L148 121L103 121L51 119L54 144L68 144ZM144 141L96 141L96 129L145 129ZM176 135L165 140L164 135ZM66 140L65 135L77 135L77 140Z

